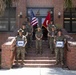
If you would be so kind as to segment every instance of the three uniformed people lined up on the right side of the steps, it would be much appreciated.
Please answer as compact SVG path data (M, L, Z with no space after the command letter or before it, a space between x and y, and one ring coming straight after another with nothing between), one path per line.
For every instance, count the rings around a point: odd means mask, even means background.
M51 21L47 27L48 30L48 46L51 53L55 53L56 65L59 63L64 65L64 47L66 44L66 38L63 36L62 30L57 27Z

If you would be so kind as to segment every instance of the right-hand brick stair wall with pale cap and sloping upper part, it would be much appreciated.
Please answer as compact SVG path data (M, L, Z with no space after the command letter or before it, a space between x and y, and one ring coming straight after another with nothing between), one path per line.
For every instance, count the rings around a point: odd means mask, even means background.
M76 70L76 41L64 29L62 31L67 39L67 44L65 45L65 64L69 69Z

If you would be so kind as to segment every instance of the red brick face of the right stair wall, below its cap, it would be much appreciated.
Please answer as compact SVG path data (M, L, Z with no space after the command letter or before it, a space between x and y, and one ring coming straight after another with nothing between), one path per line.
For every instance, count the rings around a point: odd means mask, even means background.
M68 45L67 66L69 69L76 70L76 45Z

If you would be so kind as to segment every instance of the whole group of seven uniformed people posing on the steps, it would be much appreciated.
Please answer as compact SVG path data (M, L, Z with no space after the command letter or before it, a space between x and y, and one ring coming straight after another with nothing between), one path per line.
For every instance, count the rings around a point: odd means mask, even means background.
M62 35L62 31L57 30L56 26L52 23L49 23L47 27L48 31L48 46L51 53L56 55L56 65L63 63L64 57L64 45L66 43L65 37ZM17 65L19 56L21 54L22 65L24 65L25 54L27 54L27 49L31 47L32 42L33 27L30 24L30 21L27 21L25 24L22 24L22 27L18 30L18 35L16 36L16 53L17 53ZM35 38L36 38L36 53L43 53L42 49L42 37L43 32L41 27L37 27Z

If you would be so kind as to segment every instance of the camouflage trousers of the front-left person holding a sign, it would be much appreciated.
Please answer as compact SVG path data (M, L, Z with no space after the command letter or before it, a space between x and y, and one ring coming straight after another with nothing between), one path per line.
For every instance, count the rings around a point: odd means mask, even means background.
M17 63L18 63L20 54L21 54L21 60L23 63L25 59L25 47L17 47L16 53L17 53Z

